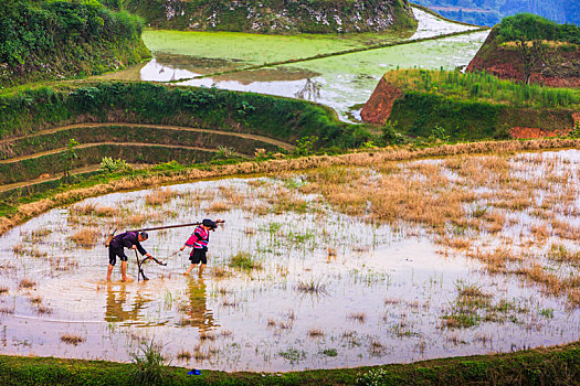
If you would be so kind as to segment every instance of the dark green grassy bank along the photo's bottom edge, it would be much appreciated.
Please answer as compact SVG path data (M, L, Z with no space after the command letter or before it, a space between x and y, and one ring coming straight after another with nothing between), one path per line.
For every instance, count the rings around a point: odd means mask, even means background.
M54 357L0 356L2 385L129 385L135 364ZM294 373L223 373L167 367L167 385L572 385L580 343L509 354L451 357L384 366Z

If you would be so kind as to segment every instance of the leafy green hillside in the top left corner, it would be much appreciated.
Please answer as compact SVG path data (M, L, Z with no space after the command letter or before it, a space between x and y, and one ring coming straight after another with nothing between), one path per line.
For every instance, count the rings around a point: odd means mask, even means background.
M149 57L143 21L96 0L7 0L0 14L0 86L115 71Z

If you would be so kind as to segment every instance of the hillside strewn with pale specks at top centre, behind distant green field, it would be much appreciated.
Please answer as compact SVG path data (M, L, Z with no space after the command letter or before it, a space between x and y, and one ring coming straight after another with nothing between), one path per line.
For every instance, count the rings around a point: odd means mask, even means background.
M407 0L124 0L154 28L272 34L415 28Z

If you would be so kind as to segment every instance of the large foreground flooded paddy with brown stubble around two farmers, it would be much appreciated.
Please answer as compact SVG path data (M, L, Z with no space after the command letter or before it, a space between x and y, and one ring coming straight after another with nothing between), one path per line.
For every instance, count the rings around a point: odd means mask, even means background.
M370 157L370 156L369 156ZM580 335L580 151L327 168L115 193L0 237L6 354L289 371L509 352ZM106 282L110 228L150 232L146 282ZM136 278L135 256L128 253Z

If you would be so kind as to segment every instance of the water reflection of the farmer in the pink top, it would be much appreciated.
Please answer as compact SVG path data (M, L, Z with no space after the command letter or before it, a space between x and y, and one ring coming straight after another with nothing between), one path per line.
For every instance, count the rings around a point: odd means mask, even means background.
M203 277L190 278L187 292L189 304L184 309L182 324L198 328L200 332L218 328L213 311L208 309L208 290Z

